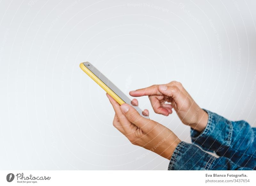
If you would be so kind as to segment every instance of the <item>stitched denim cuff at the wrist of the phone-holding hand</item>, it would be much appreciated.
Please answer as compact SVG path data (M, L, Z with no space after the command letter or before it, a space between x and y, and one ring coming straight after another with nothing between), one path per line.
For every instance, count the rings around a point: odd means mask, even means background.
M196 145L182 141L172 154L168 170L211 170L215 159Z

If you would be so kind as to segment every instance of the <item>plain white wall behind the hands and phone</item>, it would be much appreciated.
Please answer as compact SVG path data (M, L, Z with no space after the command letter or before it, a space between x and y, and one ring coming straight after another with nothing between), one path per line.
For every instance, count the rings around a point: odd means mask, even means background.
M136 4L134 4L136 3ZM127 95L182 82L203 108L255 126L255 1L1 1L0 169L166 170L112 126L90 61ZM150 118L190 142L176 113Z

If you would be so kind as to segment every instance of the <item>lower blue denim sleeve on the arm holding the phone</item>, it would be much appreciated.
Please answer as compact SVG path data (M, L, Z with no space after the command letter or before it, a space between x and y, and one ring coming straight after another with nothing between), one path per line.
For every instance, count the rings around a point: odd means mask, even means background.
M241 167L226 157L216 158L194 144L180 142L175 148L168 170L253 170Z

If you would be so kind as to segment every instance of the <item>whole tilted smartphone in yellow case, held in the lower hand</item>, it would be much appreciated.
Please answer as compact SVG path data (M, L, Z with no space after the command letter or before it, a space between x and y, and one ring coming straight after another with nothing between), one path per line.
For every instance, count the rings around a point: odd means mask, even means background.
M127 103L131 105L131 99L127 97L120 89L116 87L111 81L108 80L97 68L95 68L91 63L84 62L80 64L80 68L89 75L102 89L104 89L111 97L113 97L119 105ZM138 106L133 106L141 116L148 118L142 114L142 110Z

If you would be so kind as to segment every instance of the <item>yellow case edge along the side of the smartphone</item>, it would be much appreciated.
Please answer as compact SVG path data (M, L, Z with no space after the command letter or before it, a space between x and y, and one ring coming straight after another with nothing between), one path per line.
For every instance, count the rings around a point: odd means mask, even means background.
M119 105L124 104L125 102L116 95L115 92L113 92L105 83L103 83L96 75L92 73L86 66L84 66L84 63L80 63L80 68L87 74L89 75L90 78L92 78L93 81L95 81L102 89L104 89L113 99L116 100Z

